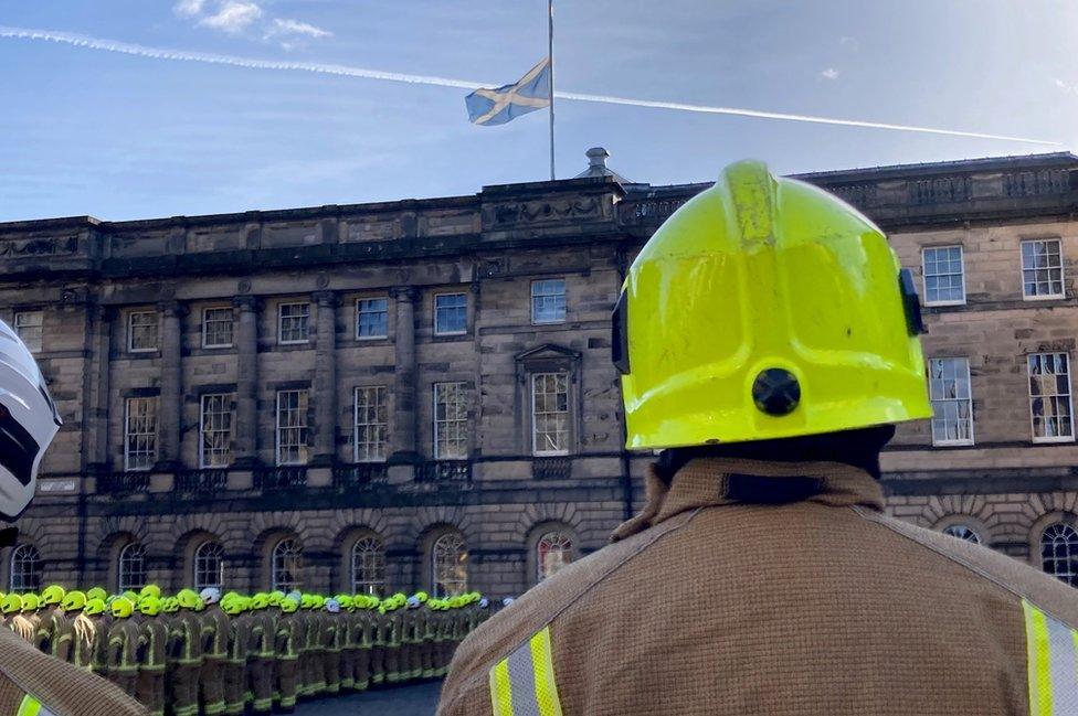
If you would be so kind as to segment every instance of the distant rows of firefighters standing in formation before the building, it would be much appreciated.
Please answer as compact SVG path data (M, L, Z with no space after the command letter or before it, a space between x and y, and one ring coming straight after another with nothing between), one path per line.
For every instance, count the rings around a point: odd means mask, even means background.
M2 622L108 678L152 716L290 712L316 698L445 675L490 610L478 592L430 598L182 589L0 595ZM507 600L508 601L508 600Z

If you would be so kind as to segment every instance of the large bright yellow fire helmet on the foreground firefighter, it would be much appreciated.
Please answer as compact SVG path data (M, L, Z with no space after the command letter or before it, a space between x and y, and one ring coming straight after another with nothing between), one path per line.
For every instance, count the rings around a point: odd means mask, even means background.
M920 304L841 200L727 167L633 261L613 316L630 449L928 418Z

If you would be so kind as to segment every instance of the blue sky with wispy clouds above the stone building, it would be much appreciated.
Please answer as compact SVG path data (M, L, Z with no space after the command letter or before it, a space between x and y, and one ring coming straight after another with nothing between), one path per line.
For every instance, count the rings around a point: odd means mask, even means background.
M1058 141L559 101L559 175L633 181L1072 150L1064 0L557 0L558 89ZM494 84L546 53L545 0L0 0L0 25ZM125 220L469 194L546 179L546 115L467 122L466 89L0 36L0 221Z

